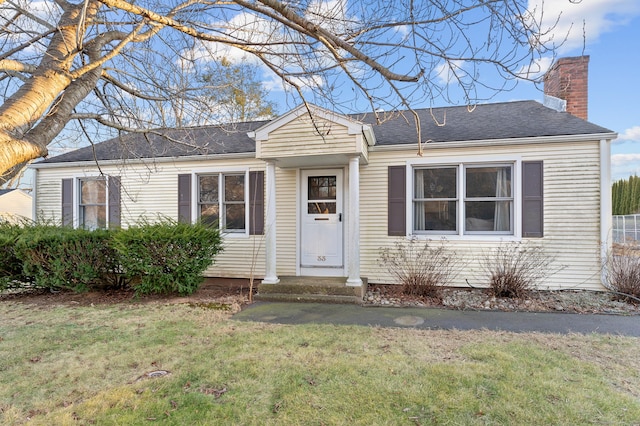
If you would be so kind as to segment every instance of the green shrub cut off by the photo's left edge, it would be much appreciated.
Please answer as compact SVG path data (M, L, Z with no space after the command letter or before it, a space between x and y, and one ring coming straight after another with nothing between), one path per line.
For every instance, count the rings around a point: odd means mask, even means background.
M17 252L17 242L27 222L10 223L0 221L0 291L21 288L33 281L26 275L22 258Z

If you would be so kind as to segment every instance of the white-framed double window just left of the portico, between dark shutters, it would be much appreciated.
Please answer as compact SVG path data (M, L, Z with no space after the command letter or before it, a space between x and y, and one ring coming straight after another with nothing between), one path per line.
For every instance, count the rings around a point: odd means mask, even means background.
M198 216L228 232L245 231L245 174L198 175Z

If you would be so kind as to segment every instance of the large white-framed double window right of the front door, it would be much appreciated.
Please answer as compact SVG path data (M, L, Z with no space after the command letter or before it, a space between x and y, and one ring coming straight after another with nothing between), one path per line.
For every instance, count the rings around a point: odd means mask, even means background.
M513 165L413 169L416 234L514 233Z

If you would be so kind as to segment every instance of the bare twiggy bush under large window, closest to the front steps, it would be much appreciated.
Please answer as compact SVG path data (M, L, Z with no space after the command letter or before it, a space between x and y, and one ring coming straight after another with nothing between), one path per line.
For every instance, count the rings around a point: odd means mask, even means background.
M404 294L440 298L441 288L455 278L461 264L445 242L399 240L380 250L379 263L402 284Z

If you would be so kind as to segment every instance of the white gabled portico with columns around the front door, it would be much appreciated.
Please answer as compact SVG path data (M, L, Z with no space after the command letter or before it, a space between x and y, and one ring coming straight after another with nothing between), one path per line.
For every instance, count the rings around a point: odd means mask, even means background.
M361 286L360 166L368 163L368 148L375 144L371 126L314 105L300 105L249 136L256 141L256 158L266 164L262 283L280 281L280 244L295 245L295 271L288 266L286 275L346 277L347 286ZM286 184L280 183L280 188L277 181ZM292 188L295 198L283 194ZM295 200L295 206L278 205L279 198ZM278 222L279 212L292 215L291 208L296 223ZM294 227L295 241L282 236L291 232L278 230L278 223Z

